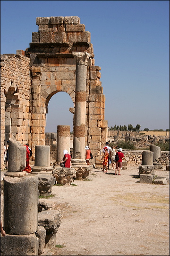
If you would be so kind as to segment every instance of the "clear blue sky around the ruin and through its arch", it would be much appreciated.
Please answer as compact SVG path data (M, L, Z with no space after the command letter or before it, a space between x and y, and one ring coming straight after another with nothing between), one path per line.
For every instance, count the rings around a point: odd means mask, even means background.
M91 33L108 126L170 128L170 1L0 1L0 54L26 50L36 17L78 16ZM45 132L70 125L73 103L55 94ZM55 115L55 116L54 116Z

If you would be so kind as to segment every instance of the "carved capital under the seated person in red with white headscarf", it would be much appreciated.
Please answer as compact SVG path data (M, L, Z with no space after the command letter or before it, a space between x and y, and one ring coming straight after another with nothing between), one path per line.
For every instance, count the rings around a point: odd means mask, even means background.
M55 167L52 170L52 175L55 177L57 184L71 185L76 179L76 170L75 168Z

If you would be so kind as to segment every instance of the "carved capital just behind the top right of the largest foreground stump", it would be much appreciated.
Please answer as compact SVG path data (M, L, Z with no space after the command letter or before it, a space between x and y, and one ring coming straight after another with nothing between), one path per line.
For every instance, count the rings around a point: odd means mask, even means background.
M37 174L38 177L38 191L40 196L49 196L52 192L52 186L55 184L55 178L48 174Z

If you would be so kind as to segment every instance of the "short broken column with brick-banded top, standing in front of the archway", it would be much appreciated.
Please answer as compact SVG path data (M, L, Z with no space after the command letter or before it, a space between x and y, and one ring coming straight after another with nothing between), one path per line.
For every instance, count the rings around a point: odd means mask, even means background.
M60 162L63 158L63 150L67 149L70 154L70 126L58 125L57 126L57 158L56 161Z

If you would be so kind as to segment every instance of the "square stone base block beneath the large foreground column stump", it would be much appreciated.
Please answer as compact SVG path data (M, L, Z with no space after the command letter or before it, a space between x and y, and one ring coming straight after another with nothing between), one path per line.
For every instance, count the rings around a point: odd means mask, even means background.
M0 237L0 255L38 255L39 238L35 234Z

